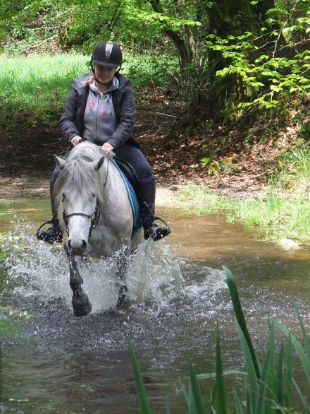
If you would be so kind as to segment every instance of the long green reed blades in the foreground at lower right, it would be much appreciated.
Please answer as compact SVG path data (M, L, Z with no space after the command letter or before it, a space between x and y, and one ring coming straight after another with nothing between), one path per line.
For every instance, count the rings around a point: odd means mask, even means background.
M217 330L216 335L216 373L215 374L199 374L197 375L194 366L190 362L188 376L188 391L185 386L181 386L182 394L188 406L189 414L228 414L227 394L225 390L224 377L230 374L243 374L245 382L240 385L240 391L233 390L235 406L231 413L256 413L256 414L272 414L272 413L292 413L297 414L297 409L293 404L302 404L304 413L310 413L310 405L304 396L301 388L294 379L293 370L293 354L292 346L294 346L297 358L302 365L306 377L306 387L310 389L310 339L306 334L304 321L296 307L299 327L302 332L304 347L290 331L280 324L278 321L271 319L268 321L268 340L266 345L266 353L263 362L259 364L258 357L252 345L252 339L247 329L244 318L244 312L240 303L237 284L233 273L223 266L225 276L227 278L228 288L230 290L233 309L236 317L237 331L240 337L240 343L243 351L245 371L244 372L224 372L221 357L220 334ZM287 341L282 343L280 351L277 355L278 345L275 342L275 327L285 333ZM130 360L132 369L135 374L137 393L140 401L140 412L149 414L151 409L147 394L144 389L140 370L137 367L132 345L129 345ZM215 397L211 394L209 398L204 395L204 389L201 384L202 380L215 380ZM293 385L296 394L293 393ZM309 398L309 392L307 394ZM207 399L208 398L208 399ZM144 401L144 403L142 403ZM207 402L206 402L207 401ZM214 406L214 403L216 403ZM207 410L207 408L210 408ZM245 411L244 411L245 410ZM170 406L167 406L166 413L171 413Z

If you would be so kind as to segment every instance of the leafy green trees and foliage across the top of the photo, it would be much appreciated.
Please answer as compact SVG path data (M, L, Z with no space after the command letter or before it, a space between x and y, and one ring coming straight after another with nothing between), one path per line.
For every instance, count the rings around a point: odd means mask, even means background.
M206 97L222 119L257 108L271 115L281 112L287 99L309 93L310 16L306 0L266 5L258 0L227 0L225 7L220 1L189 0L182 7L173 0L98 0L96 6L84 0L5 0L0 45L9 54L75 49L89 55L99 40L111 38L132 54L147 51L149 66L159 64L159 82L165 78L161 54L164 60L167 54L176 57L171 80L178 61L192 124Z

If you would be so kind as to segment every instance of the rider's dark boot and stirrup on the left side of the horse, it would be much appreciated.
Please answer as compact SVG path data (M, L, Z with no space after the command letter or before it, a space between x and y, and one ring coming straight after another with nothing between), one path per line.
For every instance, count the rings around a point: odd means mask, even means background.
M40 225L39 229L37 230L36 237L39 240L43 240L49 244L53 244L54 242L61 243L63 241L63 229L59 226L58 222L58 212L55 206L54 197L53 197L53 187L54 182L56 181L56 177L58 176L57 172L54 173L51 179L51 213L53 217L51 220L45 221L42 225ZM41 230L42 227L46 224L51 224L47 230Z

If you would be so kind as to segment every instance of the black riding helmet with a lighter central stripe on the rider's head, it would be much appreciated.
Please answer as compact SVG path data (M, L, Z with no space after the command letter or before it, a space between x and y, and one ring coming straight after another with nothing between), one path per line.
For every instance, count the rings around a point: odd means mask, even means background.
M92 62L97 65L118 68L122 65L123 54L120 47L113 42L100 42L92 52Z

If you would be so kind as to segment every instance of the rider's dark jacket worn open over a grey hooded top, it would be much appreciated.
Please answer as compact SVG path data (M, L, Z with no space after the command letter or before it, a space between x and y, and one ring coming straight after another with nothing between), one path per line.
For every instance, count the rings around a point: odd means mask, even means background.
M73 89L61 114L61 130L69 142L73 136L82 136L83 134L85 107L89 93L89 84L84 82L91 76L92 73L87 73L73 81ZM131 137L135 124L135 100L130 81L120 73L116 73L115 76L118 78L119 85L118 89L111 93L117 127L107 142L111 143L111 146L115 149L124 143L130 143L138 147Z

